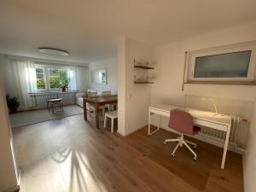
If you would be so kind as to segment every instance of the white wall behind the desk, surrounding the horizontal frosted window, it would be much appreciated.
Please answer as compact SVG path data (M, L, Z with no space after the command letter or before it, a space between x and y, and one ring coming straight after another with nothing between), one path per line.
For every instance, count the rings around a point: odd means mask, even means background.
M185 84L182 91L184 52L196 49L207 49L227 44L238 44L256 40L256 23L236 26L215 32L210 32L193 38L159 46L155 49L154 59L157 63L156 80L152 89L151 102L170 103L173 105L214 110L211 101L201 100L202 96L215 96L218 111L255 119L253 115L253 102L256 96L256 86L251 85L212 85L212 84ZM255 105L254 105L255 110ZM163 120L167 127L168 119ZM255 121L255 120L254 120ZM154 122L156 124L156 122ZM250 130L251 129L251 130ZM245 185L246 191L256 188L255 182L255 151L256 134L255 123L250 127L242 123L238 133L241 145L247 144L247 131L249 143L245 156ZM253 170L254 169L254 170Z

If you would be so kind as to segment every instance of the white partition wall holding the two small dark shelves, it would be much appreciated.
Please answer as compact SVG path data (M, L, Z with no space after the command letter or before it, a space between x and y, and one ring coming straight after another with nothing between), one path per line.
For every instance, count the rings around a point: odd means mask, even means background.
M147 70L134 68L137 61L153 61L153 49L128 38L119 38L119 128L126 136L148 124L148 106L151 84L134 84L137 77L148 74Z

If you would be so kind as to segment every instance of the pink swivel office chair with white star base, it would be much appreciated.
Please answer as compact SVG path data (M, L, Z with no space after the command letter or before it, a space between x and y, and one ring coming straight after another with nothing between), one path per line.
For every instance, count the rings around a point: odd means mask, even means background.
M194 148L196 148L196 144L183 139L183 134L195 135L200 131L198 126L193 125L193 118L191 114L183 110L173 109L170 112L169 127L181 133L181 137L177 137L177 139L166 139L164 142L165 144L167 142L178 142L177 146L172 151L172 156L175 155L178 146L183 147L184 144L189 148L189 151L194 154L194 160L197 160L197 155L193 149L189 147L189 144L192 144L194 145Z

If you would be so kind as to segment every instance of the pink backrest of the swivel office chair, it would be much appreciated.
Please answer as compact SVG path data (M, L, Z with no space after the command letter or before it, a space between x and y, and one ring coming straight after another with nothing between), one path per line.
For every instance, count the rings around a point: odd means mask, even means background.
M181 133L193 135L193 117L183 110L173 109L170 112L169 127Z

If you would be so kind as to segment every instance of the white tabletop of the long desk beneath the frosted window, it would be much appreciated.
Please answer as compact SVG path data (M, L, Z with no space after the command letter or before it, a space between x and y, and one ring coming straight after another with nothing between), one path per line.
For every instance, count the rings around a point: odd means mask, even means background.
M216 114L208 111L201 111L194 108L182 108L172 105L160 104L160 105L151 105L150 108L160 110L162 112L170 113L174 108L179 108L190 113L195 119L204 119L218 124L231 125L231 117L224 114Z

